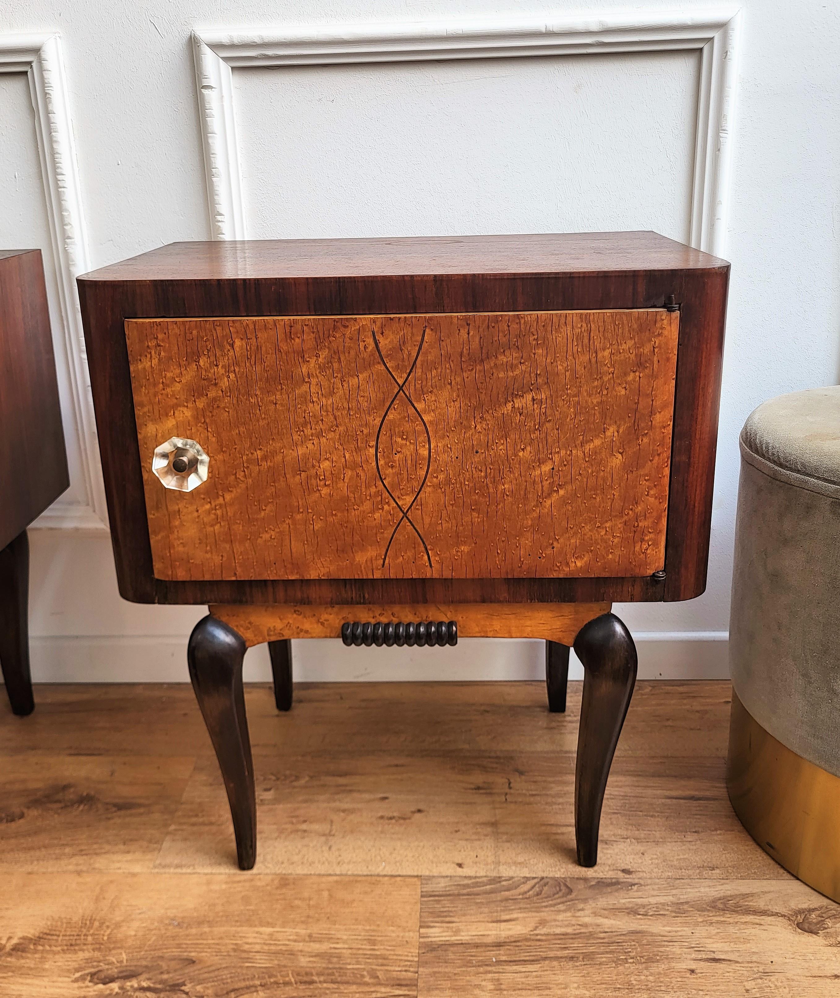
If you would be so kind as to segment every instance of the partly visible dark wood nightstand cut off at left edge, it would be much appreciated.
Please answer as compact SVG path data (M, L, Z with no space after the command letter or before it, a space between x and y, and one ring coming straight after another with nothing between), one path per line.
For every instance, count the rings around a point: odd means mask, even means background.
M0 250L0 667L12 711L29 675L26 528L70 484L41 250Z

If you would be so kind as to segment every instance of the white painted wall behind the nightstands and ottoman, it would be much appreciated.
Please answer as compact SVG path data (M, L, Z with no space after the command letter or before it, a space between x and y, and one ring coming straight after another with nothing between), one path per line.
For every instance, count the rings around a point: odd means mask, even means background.
M695 2L625 10L643 25L674 8L683 20L702 20L706 11ZM618 608L647 676L725 675L738 430L763 399L836 383L840 366L840 7L744 0L740 8L740 42L726 53L737 58L735 117L722 123L731 184L710 206L732 279L709 584L691 603ZM593 4L588 13L622 9ZM78 319L62 299L62 279L76 266L214 232L191 33L281 35L300 24L330 33L451 16L478 25L488 18L556 22L578 10L570 0L461 0L457 8L443 0L3 6L0 248L45 253L73 477L44 521L61 526L30 535L37 680L186 679L187 636L203 613L133 606L117 594L108 535L96 529L102 507L88 460L95 449ZM9 55L14 34L54 32L72 136L62 132L59 113L42 146L57 145L61 154L75 143L78 198L62 189L61 177L44 182L28 64ZM20 49L19 40L14 45ZM61 85L47 56L47 82ZM691 47L234 69L241 226L254 238L643 228L687 242L707 87ZM42 105L51 93L42 94ZM64 215L56 211L61 197L72 209ZM216 203L224 197L217 192ZM694 237L701 242L696 228ZM295 654L300 679L542 674L542 649L533 642L468 641L446 654L347 652L311 642L298 643ZM250 678L267 677L264 650L248 653L248 663Z

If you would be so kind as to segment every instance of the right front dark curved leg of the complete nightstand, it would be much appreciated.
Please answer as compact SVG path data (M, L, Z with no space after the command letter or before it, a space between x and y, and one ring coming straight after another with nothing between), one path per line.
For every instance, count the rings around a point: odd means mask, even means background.
M604 791L638 663L630 631L615 614L584 625L574 647L585 670L575 768L575 837L578 862L595 866Z

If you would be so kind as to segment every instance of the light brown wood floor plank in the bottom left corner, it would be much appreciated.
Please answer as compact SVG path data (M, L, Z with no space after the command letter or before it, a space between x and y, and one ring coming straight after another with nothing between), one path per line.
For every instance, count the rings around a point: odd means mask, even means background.
M4 995L416 994L416 878L18 874L3 886Z

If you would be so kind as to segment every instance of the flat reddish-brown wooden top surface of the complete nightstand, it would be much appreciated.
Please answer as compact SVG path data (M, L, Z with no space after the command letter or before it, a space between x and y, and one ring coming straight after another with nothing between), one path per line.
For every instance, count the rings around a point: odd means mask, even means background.
M82 280L242 280L408 274L713 269L725 260L656 233L172 243Z

